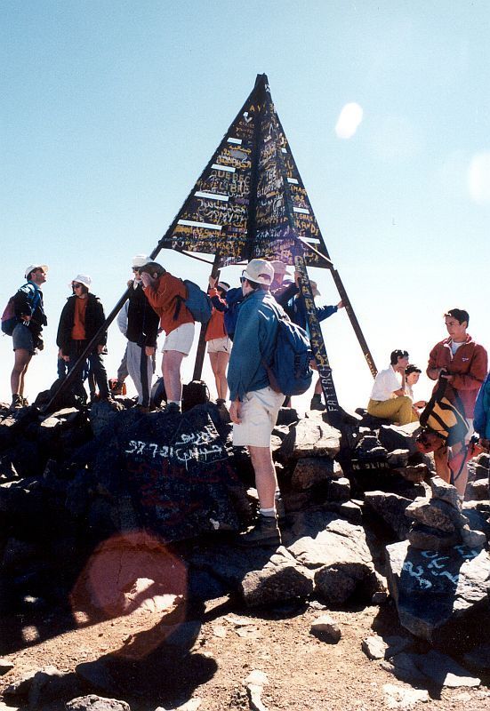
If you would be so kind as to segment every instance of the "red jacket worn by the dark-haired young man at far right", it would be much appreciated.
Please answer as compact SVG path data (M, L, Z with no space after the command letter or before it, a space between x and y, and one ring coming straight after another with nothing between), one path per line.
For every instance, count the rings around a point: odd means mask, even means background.
M439 341L430 351L427 370L446 368L454 375L453 382L446 389L446 395L452 401L451 389L455 390L462 400L465 417L472 418L478 390L486 379L487 364L485 348L475 343L468 335L466 343L457 349L454 356L451 352L451 339ZM437 387L436 384L434 390Z

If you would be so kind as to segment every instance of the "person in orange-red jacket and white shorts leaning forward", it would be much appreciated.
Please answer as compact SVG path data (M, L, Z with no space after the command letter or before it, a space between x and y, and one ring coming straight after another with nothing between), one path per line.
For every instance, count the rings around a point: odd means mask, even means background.
M160 316L160 328L166 338L162 352L162 375L167 396L166 409L180 412L182 401L181 364L189 356L194 340L194 317L185 304L187 289L176 276L150 261L141 268L143 292Z

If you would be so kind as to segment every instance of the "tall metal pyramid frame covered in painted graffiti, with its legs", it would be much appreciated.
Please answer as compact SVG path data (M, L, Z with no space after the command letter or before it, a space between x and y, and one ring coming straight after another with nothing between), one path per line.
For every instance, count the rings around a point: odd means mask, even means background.
M201 259L195 252L213 254L213 276L221 267L254 257L281 260L300 274L311 348L325 395L325 419L339 425L344 419L332 369L326 355L307 267L328 268L375 376L376 367L338 272L333 268L309 196L277 116L265 74L258 75L220 145L206 164L172 224L151 252L155 260L162 249ZM205 260L207 261L207 260ZM118 300L100 331L108 328L127 299ZM74 369L48 403L48 409L67 387L91 352L99 332L87 345ZM194 379L199 379L205 356L205 327L201 330Z

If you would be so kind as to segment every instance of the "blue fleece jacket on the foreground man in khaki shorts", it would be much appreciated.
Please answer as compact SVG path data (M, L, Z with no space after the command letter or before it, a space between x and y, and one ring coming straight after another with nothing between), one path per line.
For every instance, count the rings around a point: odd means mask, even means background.
M277 306L269 292L258 289L245 297L238 311L237 329L229 357L230 400L269 385L262 365L271 363L277 340Z

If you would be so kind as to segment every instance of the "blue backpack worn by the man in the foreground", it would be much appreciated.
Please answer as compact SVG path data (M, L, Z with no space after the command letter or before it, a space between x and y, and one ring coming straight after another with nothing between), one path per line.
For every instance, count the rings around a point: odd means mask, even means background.
M276 309L275 309L276 310ZM277 308L277 340L272 363L263 363L269 384L277 393L293 396L306 393L313 371L309 365L313 354L307 332L290 320L283 309Z

